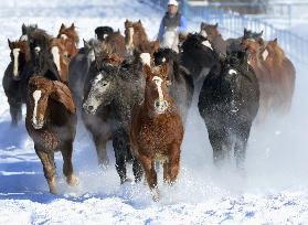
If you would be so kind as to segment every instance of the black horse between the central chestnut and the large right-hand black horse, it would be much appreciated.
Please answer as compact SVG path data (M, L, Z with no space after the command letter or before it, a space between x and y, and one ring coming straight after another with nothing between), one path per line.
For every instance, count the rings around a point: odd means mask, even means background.
M195 93L199 94L204 77L217 61L219 55L206 38L198 33L188 34L182 44L179 63L191 74Z

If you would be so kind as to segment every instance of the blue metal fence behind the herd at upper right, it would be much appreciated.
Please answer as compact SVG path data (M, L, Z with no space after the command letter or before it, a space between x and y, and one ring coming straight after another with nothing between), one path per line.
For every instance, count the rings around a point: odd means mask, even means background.
M168 0L150 0L153 4L167 9ZM222 9L206 6L190 6L187 0L180 1L180 10L191 21L201 23L219 23L219 28L225 38L243 35L244 28L259 32L264 31L265 40L278 39L279 45L294 61L308 63L308 41L286 30L277 29L264 20L249 15L227 12Z

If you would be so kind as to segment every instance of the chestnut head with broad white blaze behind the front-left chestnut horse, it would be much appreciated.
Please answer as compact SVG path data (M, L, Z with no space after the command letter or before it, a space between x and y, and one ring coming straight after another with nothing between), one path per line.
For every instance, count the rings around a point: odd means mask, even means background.
M62 78L62 82L67 82L71 55L66 49L65 40L52 39L51 54L53 56L53 62L56 65L59 74Z

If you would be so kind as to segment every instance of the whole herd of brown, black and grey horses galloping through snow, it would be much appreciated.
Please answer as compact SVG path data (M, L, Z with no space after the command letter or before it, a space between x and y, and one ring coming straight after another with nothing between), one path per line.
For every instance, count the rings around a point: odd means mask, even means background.
M57 193L54 152L63 156L63 173L76 185L72 164L77 118L92 135L98 164L109 160L113 141L120 183L146 180L159 200L156 161L163 181L173 184L180 169L181 143L193 96L204 119L214 162L234 151L243 169L253 121L273 113L287 114L295 88L295 67L274 41L244 30L224 40L217 24L201 23L200 32L182 36L179 52L150 41L141 21L126 20L125 35L110 26L78 49L74 23L61 25L56 38L38 25L22 25L11 50L2 85L11 125L22 119L34 141L50 192Z

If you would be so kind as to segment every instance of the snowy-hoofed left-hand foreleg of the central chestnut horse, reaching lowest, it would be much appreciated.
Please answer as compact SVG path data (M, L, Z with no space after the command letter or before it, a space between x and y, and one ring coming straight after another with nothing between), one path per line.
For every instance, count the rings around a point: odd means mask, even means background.
M152 199L157 202L159 200L159 191L157 185L157 173L155 171L155 160L141 156L140 161L146 173L148 185L151 190Z

